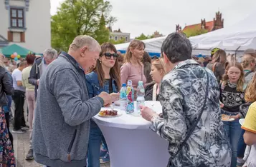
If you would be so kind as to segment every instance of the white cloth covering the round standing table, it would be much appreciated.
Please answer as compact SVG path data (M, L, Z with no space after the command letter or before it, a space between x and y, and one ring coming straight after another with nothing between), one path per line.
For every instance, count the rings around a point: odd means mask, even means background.
M146 106L161 113L158 101L146 101ZM102 110L110 108L102 108ZM115 106L118 117L93 119L100 127L108 144L111 167L166 167L169 161L168 141L153 132L151 122L141 116L131 116Z

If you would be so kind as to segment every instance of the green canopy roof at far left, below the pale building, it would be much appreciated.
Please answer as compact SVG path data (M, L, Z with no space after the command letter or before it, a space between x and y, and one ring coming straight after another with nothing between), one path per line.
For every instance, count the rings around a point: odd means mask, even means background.
M14 54L14 52L16 52L17 54L19 54L22 57L26 57L27 54L29 54L29 52L33 52L33 51L29 51L29 49L25 49L22 46L19 46L17 44L12 44L12 45L2 48L1 52L6 57L10 57L11 54Z

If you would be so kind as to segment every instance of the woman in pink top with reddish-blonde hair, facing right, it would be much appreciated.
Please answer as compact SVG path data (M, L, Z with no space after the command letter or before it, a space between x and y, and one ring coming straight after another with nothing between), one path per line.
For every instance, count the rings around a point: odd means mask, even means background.
M145 44L143 41L133 40L125 54L125 64L121 67L121 83L133 81L133 88L137 88L138 81L143 81L144 86L146 77L144 76L144 66L141 63L143 59Z

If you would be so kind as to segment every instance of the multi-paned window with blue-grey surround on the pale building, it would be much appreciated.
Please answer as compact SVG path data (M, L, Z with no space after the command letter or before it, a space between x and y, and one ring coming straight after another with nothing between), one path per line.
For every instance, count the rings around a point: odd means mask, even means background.
M24 10L11 8L11 27L24 27Z

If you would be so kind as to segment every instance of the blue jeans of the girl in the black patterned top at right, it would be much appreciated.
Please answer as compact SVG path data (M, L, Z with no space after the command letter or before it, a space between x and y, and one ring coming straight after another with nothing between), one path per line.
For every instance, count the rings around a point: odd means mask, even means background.
M236 115L236 114L229 114ZM239 120L234 121L223 121L224 129L227 132L227 137L229 138L231 150L232 150L232 158L231 158L231 167L237 166L237 145L240 140L241 135L241 125Z

